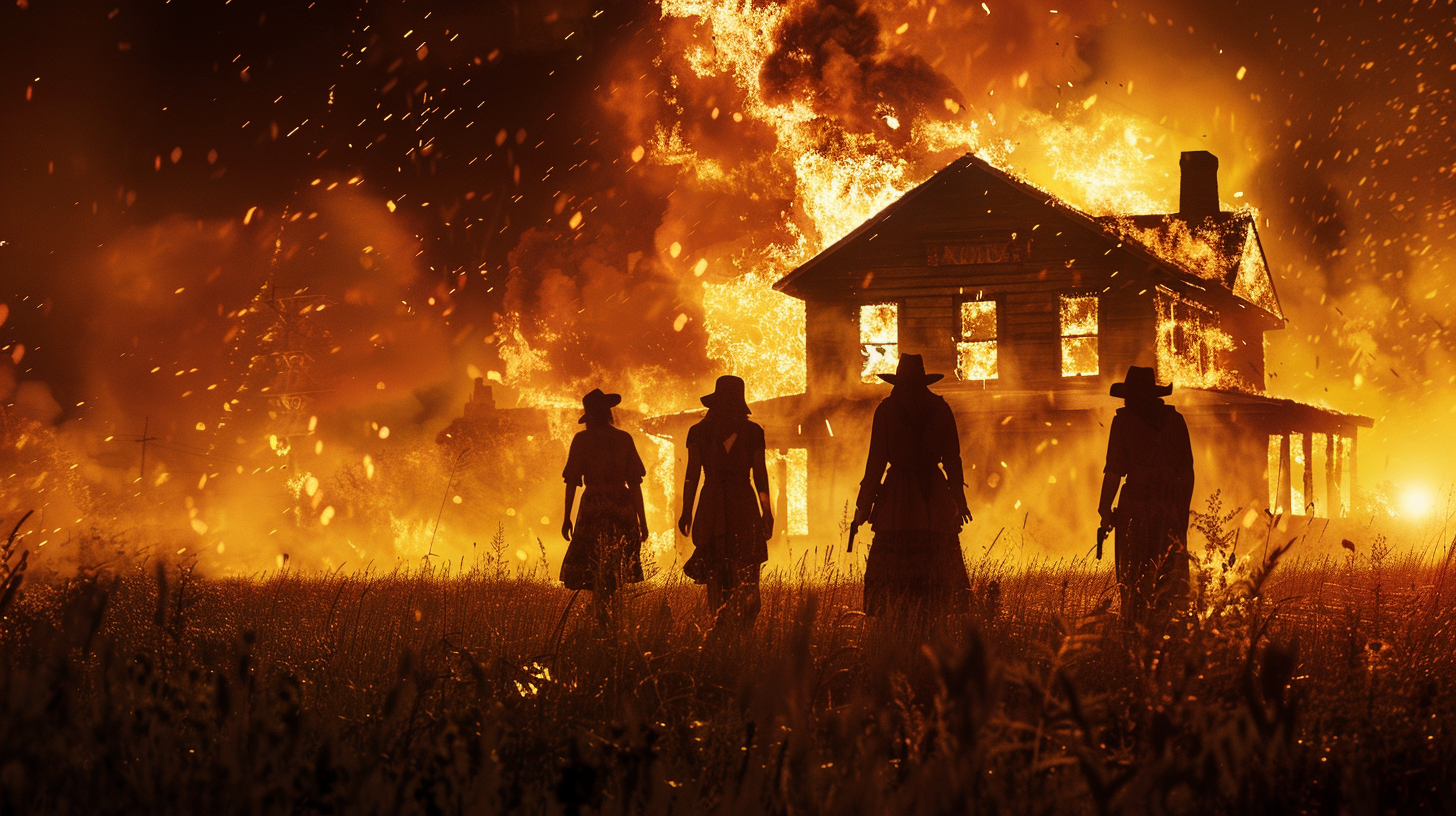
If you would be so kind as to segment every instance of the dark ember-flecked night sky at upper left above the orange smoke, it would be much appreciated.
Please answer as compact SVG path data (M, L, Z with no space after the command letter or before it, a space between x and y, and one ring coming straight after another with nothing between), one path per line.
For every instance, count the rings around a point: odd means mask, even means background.
M86 398L77 345L106 319L92 268L128 230L240 221L252 207L262 221L307 208L316 178L361 178L421 239L435 280L416 289L483 270L462 307L488 313L499 289L485 290L520 232L555 214L555 194L620 181L593 175L630 146L590 95L646 9L349 6L0 7L0 275L13 305L0 331L29 347L22 376L63 404Z

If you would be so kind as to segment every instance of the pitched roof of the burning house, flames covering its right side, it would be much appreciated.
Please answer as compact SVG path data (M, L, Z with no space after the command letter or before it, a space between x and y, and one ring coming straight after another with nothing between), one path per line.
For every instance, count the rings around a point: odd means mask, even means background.
M1176 236L1178 233L1174 226L1176 223L1184 224L1182 232L1188 233L1194 243L1204 240L1206 230L1203 227L1191 229L1187 226L1188 221L1179 219L1178 216L1093 217L1057 195L1047 192L1045 189L1041 189L1000 168L996 168L974 153L962 154L938 170L929 179L909 189L893 204L855 227L849 235L836 240L828 248L820 251L818 255L810 258L798 268L779 278L779 281L773 284L773 289L796 294L795 290L799 289L798 284L802 283L802 278L812 274L817 268L824 265L830 258L839 255L846 248L866 240L866 235L878 233L878 227L895 217L895 214L910 210L916 200L922 198L926 191L952 184L952 181L962 170L978 170L992 179L1012 187L1028 198L1041 201L1045 207L1056 210L1059 216L1063 216L1075 224L1086 229L1089 233L1114 243L1117 248L1121 248L1134 258L1144 261L1150 267L1163 271L1175 280L1181 280L1182 283L1198 289L1206 289L1204 284L1216 281L1220 284L1220 289L1265 312L1274 322L1284 322L1284 315L1278 307L1278 299L1274 294L1273 278L1268 275L1268 264L1264 259L1264 249L1262 245L1258 243L1258 232L1254 229L1252 216L1246 213L1227 213L1220 214L1229 216L1227 219L1211 219L1211 221L1219 221L1219 229L1207 230L1207 236L1211 243L1204 246L1207 246L1213 255L1222 256L1229 254L1229 258L1220 259L1214 265L1216 271L1213 274L1206 274L1206 271L1201 271L1201 267L1194 265L1190 261L1187 252L1178 251L1187 248L1182 242L1169 240L1171 236ZM1232 233L1226 233L1224 227L1227 224L1245 229L1242 232L1239 229L1233 229ZM1230 239L1230 235L1233 235L1235 239L1242 239L1242 242ZM874 235L869 235L869 238L874 238ZM1229 249L1232 246L1232 243L1229 243L1230 240L1239 246L1236 254ZM1248 255L1246 262L1245 255ZM1233 270L1233 277L1227 277L1229 270Z

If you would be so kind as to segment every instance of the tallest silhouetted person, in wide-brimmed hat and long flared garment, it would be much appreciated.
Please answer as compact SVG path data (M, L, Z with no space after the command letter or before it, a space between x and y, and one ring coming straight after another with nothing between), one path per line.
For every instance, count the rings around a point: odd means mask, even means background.
M958 612L970 599L960 542L971 520L961 440L951 407L929 389L941 376L925 373L919 354L903 354L895 373L879 374L894 389L875 408L855 504L855 522L875 530L866 615Z

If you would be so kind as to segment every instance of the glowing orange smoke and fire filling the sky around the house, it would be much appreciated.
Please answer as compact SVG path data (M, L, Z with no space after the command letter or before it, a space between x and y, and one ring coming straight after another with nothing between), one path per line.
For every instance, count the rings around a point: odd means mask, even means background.
M0 510L58 564L559 554L581 393L802 391L769 286L952 157L1166 213L1210 150L1290 321L1268 392L1373 417L1374 509L1443 513L1456 6L1051 6L7 4ZM443 452L476 376L540 439Z

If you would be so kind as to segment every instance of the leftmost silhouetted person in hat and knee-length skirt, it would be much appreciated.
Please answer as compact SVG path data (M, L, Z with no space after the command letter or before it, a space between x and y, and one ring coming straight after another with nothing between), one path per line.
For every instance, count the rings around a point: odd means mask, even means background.
M591 590L597 618L610 616L617 587L642 580L642 542L646 541L646 513L642 507L642 476L646 468L638 456L632 434L614 427L612 407L622 402L616 393L593 389L581 398L587 425L571 440L566 455L566 510L561 535L571 545L561 562L566 589ZM577 525L571 506L577 488L585 485Z

